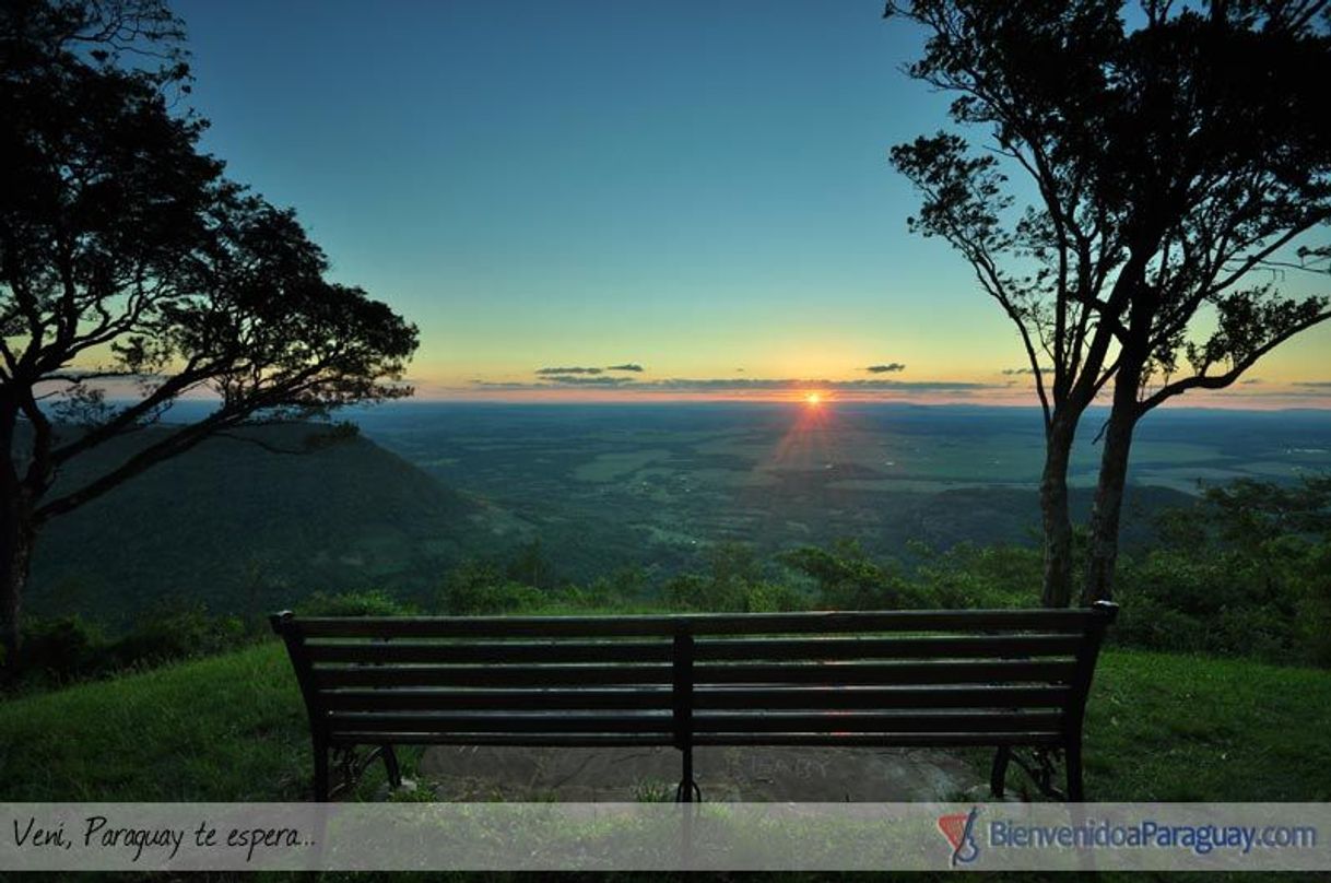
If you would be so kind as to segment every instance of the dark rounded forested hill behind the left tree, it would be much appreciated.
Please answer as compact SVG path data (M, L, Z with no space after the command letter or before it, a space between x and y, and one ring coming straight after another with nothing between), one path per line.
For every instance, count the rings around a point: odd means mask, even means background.
M301 451L305 425L244 430ZM149 428L72 461L75 487L160 438ZM53 519L27 605L125 622L160 602L262 613L313 591L438 589L487 542L480 507L365 437L302 453L212 438Z

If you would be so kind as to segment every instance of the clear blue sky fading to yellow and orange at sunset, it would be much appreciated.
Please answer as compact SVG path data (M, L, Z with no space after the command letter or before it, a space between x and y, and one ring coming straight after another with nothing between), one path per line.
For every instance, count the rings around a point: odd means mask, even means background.
M422 398L1034 404L966 262L906 230L886 152L948 99L880 0L173 5L204 148L419 326ZM1328 406L1331 328L1250 380L1187 398Z

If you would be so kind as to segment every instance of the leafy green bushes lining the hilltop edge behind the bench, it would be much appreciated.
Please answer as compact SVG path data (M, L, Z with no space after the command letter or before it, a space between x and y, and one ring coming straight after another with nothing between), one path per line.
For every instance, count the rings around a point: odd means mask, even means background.
M1331 475L1207 489L1159 521L1157 542L1121 562L1113 643L1331 667ZM334 615L1020 607L1037 602L1029 589L1041 566L1037 549L1013 545L917 545L904 563L876 559L852 539L772 558L723 542L704 570L658 582L627 567L588 585L539 587L522 575L554 579L556 567L534 542L508 558L462 562L434 593L317 591L294 606ZM198 601L164 601L121 634L83 617L33 619L17 674L32 690L217 653L266 634L272 609L213 617Z

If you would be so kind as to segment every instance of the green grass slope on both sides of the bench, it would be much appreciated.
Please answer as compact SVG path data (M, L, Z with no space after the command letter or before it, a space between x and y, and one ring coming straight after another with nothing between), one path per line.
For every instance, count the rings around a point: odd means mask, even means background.
M1097 800L1331 799L1331 673L1109 651L1087 721ZM0 705L5 800L274 800L307 794L285 651Z

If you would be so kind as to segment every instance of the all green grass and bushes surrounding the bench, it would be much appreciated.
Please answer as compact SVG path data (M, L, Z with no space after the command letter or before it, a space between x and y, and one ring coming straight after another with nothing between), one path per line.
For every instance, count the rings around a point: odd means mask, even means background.
M1331 477L1227 485L1163 517L1159 539L1122 562L1123 610L1087 711L1086 782L1095 799L1331 799L1331 770L1320 762L1331 754L1328 550ZM554 574L555 562L556 549L527 543L508 558L455 567L434 595L315 593L298 607L337 615L1004 607L1037 602L1029 587L1042 567L1038 549L1013 545L917 547L902 562L877 559L853 541L776 557L717 543L705 567L672 579L624 569L584 586L523 581ZM305 710L266 623L164 607L118 638L77 619L29 629L29 693L0 705L7 799L309 798ZM206 658L190 658L198 655ZM71 671L69 661L83 667ZM98 674L118 677L72 683ZM966 756L984 782L988 752ZM419 750L402 758L417 776ZM379 799L383 786L382 767L371 764L351 799ZM1022 790L1018 774L1012 786ZM671 792L644 780L634 799ZM441 796L425 783L402 799Z

